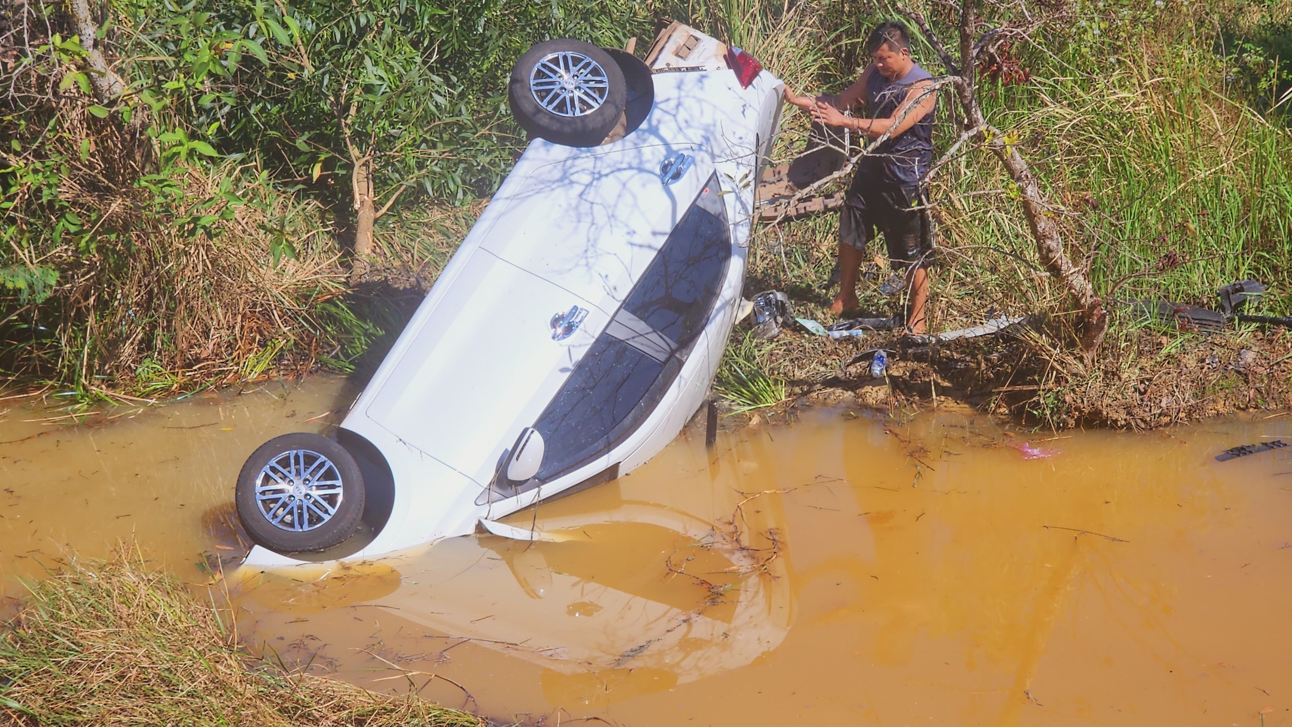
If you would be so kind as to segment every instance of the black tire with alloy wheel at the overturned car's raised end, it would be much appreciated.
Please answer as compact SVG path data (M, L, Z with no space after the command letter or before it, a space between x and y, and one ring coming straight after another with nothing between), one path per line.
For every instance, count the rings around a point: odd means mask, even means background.
M609 53L581 40L547 40L512 68L512 115L526 132L566 146L597 146L628 102L628 84Z

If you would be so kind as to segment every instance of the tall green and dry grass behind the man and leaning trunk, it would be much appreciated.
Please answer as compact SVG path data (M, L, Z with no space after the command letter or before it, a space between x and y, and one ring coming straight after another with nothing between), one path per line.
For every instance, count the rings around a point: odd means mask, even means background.
M1112 26L1120 34L1112 40L1047 32L1044 45L1016 49L1030 79L983 80L985 110L1031 160L1070 257L1089 269L1099 294L1214 305L1220 285L1260 278L1274 289L1267 309L1287 311L1292 133L1226 85L1207 30L1211 10L1177 10L1133 18L1143 21L1137 27L1129 19ZM926 46L916 56L939 70ZM826 79L819 88L846 81ZM941 99L938 150L955 138L952 107L950 97ZM796 112L787 125L802 121ZM992 307L1063 314L1061 287L1039 265L1013 183L995 159L957 156L930 196L939 223L939 325L978 322ZM761 240L758 253L773 253L756 254L761 279L808 292L829 274L837 222L806 220L764 230ZM866 292L863 305L885 305Z

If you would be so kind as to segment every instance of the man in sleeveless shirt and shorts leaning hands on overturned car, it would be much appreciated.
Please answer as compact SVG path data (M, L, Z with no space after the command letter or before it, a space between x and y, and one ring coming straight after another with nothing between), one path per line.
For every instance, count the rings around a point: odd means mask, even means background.
M925 205L920 179L933 163L937 90L933 76L911 58L911 35L902 23L880 23L866 39L866 52L871 63L837 98L795 96L787 87L786 101L823 124L854 129L871 139L886 134L886 141L858 163L845 198L839 220L841 288L829 310L841 315L857 307L866 244L881 231L893 269L906 274L906 332L924 333L932 241L926 218L916 208ZM844 111L859 101L870 118L846 116Z

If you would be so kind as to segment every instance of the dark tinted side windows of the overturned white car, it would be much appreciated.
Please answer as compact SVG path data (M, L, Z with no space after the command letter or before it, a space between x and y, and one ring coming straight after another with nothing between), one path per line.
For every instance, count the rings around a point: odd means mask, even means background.
M537 482L550 482L623 442L677 378L731 260L718 192L714 174L539 416L534 427L545 453Z

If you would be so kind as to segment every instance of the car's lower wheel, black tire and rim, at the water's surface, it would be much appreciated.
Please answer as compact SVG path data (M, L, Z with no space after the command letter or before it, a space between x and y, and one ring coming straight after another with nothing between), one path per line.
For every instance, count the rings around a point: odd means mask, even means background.
M275 553L326 550L354 535L363 518L363 475L354 457L320 434L275 436L238 474L238 519Z

